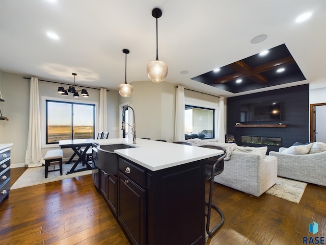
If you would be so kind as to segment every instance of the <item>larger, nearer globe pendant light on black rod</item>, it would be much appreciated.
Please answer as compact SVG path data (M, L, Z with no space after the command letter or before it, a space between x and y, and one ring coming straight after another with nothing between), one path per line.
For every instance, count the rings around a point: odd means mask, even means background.
M153 9L152 16L156 18L156 60L151 61L147 65L147 76L154 83L163 82L168 75L168 65L164 61L158 60L157 45L157 18L162 16L162 11L158 8Z

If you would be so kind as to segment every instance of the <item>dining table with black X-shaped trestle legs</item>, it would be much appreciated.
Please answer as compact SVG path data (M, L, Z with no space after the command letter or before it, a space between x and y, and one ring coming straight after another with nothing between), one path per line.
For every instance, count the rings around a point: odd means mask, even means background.
M74 162L73 166L69 171L67 171L66 175L76 173L79 171L86 171L95 169L97 167L92 167L89 162L86 160L86 152L88 149L92 146L92 143L94 142L94 139L65 139L59 141L59 146L61 149L64 148L71 148L74 153L70 157L70 159L65 164L73 163L74 157L77 155L78 159ZM83 151L80 151L80 149L85 148ZM82 165L84 167L76 169L77 165L79 163L83 163Z

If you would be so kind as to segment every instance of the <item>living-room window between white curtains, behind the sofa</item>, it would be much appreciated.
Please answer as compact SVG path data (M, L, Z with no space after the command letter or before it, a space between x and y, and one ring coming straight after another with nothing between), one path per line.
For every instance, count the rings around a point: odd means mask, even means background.
M184 107L185 139L214 138L214 113L214 109L186 105Z

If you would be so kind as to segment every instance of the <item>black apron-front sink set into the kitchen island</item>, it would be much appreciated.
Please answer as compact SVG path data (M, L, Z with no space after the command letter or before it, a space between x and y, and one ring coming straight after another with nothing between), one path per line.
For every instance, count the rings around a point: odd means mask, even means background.
M97 146L98 168L104 170L108 174L118 174L118 156L114 150L134 148L127 144L106 144Z

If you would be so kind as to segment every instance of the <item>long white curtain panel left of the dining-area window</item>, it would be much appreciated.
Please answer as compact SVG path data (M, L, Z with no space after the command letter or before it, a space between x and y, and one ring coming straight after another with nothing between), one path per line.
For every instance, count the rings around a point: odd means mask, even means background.
M39 103L39 81L31 78L30 86L30 115L25 165L39 167L44 163L41 151L41 120Z

